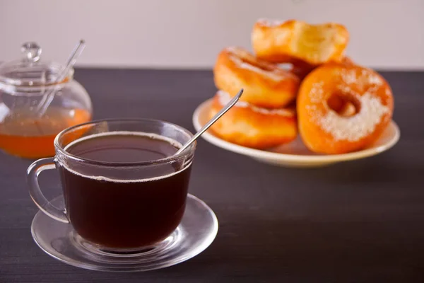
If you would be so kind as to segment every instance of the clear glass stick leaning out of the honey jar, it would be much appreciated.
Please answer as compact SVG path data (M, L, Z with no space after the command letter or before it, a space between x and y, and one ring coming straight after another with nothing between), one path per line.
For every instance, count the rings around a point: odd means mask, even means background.
M69 70L73 67L73 65L76 62L76 59L78 59L78 57L81 55L85 47L86 47L86 41L80 40L80 42L78 42L78 45L76 45L75 49L73 49L71 55L69 56L68 61L66 62L64 66L64 69L61 70L61 72L59 73L59 76L57 76L57 78L54 80L54 83L57 83L56 86L50 89L50 91L47 91L47 93L45 93L40 103L37 105L37 109L35 110L37 117L41 117L42 115L44 115L50 103L52 103L54 95L57 93L59 88L61 88L59 83L66 78L66 76L69 73Z

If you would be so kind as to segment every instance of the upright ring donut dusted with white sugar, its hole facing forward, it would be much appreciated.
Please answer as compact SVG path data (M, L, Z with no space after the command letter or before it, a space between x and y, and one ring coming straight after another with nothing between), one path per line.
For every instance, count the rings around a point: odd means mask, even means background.
M375 71L353 64L324 64L300 86L300 136L317 153L363 149L386 129L393 103L389 84Z

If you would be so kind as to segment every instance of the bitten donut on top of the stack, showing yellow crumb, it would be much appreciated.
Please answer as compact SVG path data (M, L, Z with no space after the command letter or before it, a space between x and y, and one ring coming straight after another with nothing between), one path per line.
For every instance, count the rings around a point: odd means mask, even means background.
M348 41L348 30L338 23L259 20L252 30L257 57L273 63L296 59L313 66L340 62Z

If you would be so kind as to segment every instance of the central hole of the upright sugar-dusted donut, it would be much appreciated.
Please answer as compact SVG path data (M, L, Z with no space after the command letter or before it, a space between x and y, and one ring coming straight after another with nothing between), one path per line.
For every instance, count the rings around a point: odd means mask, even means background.
M342 117L351 117L360 111L360 101L349 93L332 93L326 103Z

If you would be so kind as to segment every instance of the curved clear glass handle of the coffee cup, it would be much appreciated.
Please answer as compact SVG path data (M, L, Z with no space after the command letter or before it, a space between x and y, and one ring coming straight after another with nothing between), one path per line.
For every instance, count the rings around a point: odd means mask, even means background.
M42 158L35 161L33 164L28 167L27 170L27 181L30 186L30 195L37 207L39 207L42 212L48 216L61 221L64 223L69 223L68 217L66 217L64 209L58 209L51 204L46 197L42 194L40 185L38 184L38 175L42 171L56 169L54 164L54 158Z

